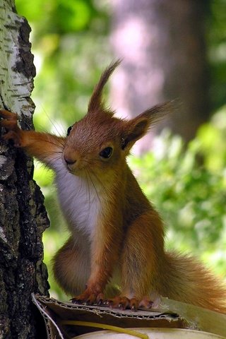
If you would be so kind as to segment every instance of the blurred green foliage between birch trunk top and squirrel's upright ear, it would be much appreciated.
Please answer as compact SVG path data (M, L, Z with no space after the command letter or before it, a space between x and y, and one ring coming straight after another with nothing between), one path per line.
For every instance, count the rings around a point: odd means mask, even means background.
M107 7L91 0L16 0L32 28L37 130L65 133L86 112L93 84L112 61ZM54 121L54 126L52 124Z

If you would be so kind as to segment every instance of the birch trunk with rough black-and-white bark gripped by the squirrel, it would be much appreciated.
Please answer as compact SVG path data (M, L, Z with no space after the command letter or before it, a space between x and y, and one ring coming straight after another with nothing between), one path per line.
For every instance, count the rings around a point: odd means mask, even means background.
M32 128L30 99L35 66L30 27L13 0L0 4L0 107L16 112ZM1 135L4 133L1 129ZM43 196L32 180L33 164L23 151L0 145L0 337L44 338L31 293L48 294L42 263L42 232L49 226Z

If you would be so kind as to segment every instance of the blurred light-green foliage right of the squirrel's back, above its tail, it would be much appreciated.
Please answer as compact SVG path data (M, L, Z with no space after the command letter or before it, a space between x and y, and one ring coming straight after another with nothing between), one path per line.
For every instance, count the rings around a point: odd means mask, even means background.
M152 153L129 160L165 221L169 249L189 251L226 271L226 107L184 149L165 131Z

